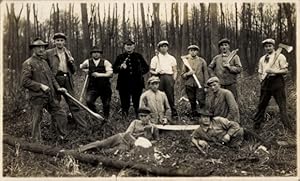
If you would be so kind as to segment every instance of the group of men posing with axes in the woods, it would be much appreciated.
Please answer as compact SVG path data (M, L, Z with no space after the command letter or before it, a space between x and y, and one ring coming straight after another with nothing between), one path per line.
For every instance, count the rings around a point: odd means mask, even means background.
M64 139L68 132L66 127L68 117L80 128L87 128L85 112L66 96L66 93L74 95L72 74L76 71L74 58L65 47L67 38L63 33L55 33L53 40L55 47L45 50L48 43L39 38L35 39L30 44L33 54L23 63L22 83L30 93L34 141L42 140L40 124L43 108L51 114L61 139ZM258 111L254 117L254 129L260 128L271 96L274 96L279 105L283 124L291 128L287 117L283 79L283 75L288 71L288 63L284 55L275 55L273 39L266 39L262 44L266 55L259 61L262 84ZM187 48L188 55L182 57L185 63L181 67L181 77L191 105L191 113L192 116L200 116L200 127L192 134L192 142L198 148L207 147L206 141L220 141L236 147L240 146L243 137L236 101L237 77L242 71L241 61L236 52L230 50L229 39L221 39L218 46L221 53L208 65L199 56L200 48L197 45L190 45ZM124 42L125 51L117 56L113 65L103 58L103 51L99 47L94 46L91 49L91 58L80 64L80 68L86 69L89 76L86 93L88 108L98 113L95 102L101 97L104 118L110 119L112 96L110 78L115 73L118 74L117 90L123 118L127 119L132 102L136 118L139 119L144 115L147 119L142 119L144 120L142 122L135 120L129 131L115 135L108 141L87 145L82 150L97 145L118 145L123 143L125 138L132 142L135 140L130 139L134 130L142 132L146 126L152 125L150 127L153 133L155 128L153 125L167 124L178 116L174 98L174 84L178 76L177 61L168 53L168 48L168 41L160 41L150 66L141 54L134 51L135 42L132 40ZM148 90L143 92L144 75L148 72L151 74L147 81ZM69 106L69 114L60 106L61 96ZM197 111L197 104L200 111Z

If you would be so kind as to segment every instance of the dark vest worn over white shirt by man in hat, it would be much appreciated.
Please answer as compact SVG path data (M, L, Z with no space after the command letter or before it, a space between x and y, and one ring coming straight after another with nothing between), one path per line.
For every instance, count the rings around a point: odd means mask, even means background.
M103 89L106 86L110 87L110 81L108 77L98 77L98 78L93 77L91 76L91 74L94 72L106 73L103 59L100 59L98 66L95 65L92 58L89 59L90 80L89 80L88 89Z

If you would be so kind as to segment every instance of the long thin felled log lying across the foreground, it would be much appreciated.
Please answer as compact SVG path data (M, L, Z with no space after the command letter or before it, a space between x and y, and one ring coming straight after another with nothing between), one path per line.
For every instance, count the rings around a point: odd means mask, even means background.
M15 138L10 135L3 136L3 143L14 147L18 145L20 149L34 152L34 153L39 153L39 154L44 154L49 156L57 156L57 157L64 157L65 155L71 155L75 159L85 163L102 164L103 166L114 167L117 169L132 168L132 169L139 170L142 173L151 173L157 176L202 176L203 177L203 176L209 176L213 172L213 170L157 167L157 166L146 165L142 163L134 163L131 161L125 162L120 160L114 160L99 155L78 153L70 150L65 150L64 152L62 152L61 151L62 149L58 147L51 147L48 145L42 145L38 143L29 143L25 140Z

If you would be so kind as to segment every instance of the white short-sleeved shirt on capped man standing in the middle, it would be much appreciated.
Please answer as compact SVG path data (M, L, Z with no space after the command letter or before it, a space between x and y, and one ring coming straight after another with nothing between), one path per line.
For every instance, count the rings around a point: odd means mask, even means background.
M151 59L150 68L156 72L162 71L163 74L173 74L172 67L177 66L175 57L166 53L165 55L159 53Z

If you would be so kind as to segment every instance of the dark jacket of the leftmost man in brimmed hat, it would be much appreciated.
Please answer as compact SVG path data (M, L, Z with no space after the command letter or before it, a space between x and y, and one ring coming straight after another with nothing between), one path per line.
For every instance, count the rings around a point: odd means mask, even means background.
M37 57L31 56L22 64L22 85L29 90L30 97L48 97L41 90L41 84L50 88L52 96L56 95L55 89L59 88L48 63Z

